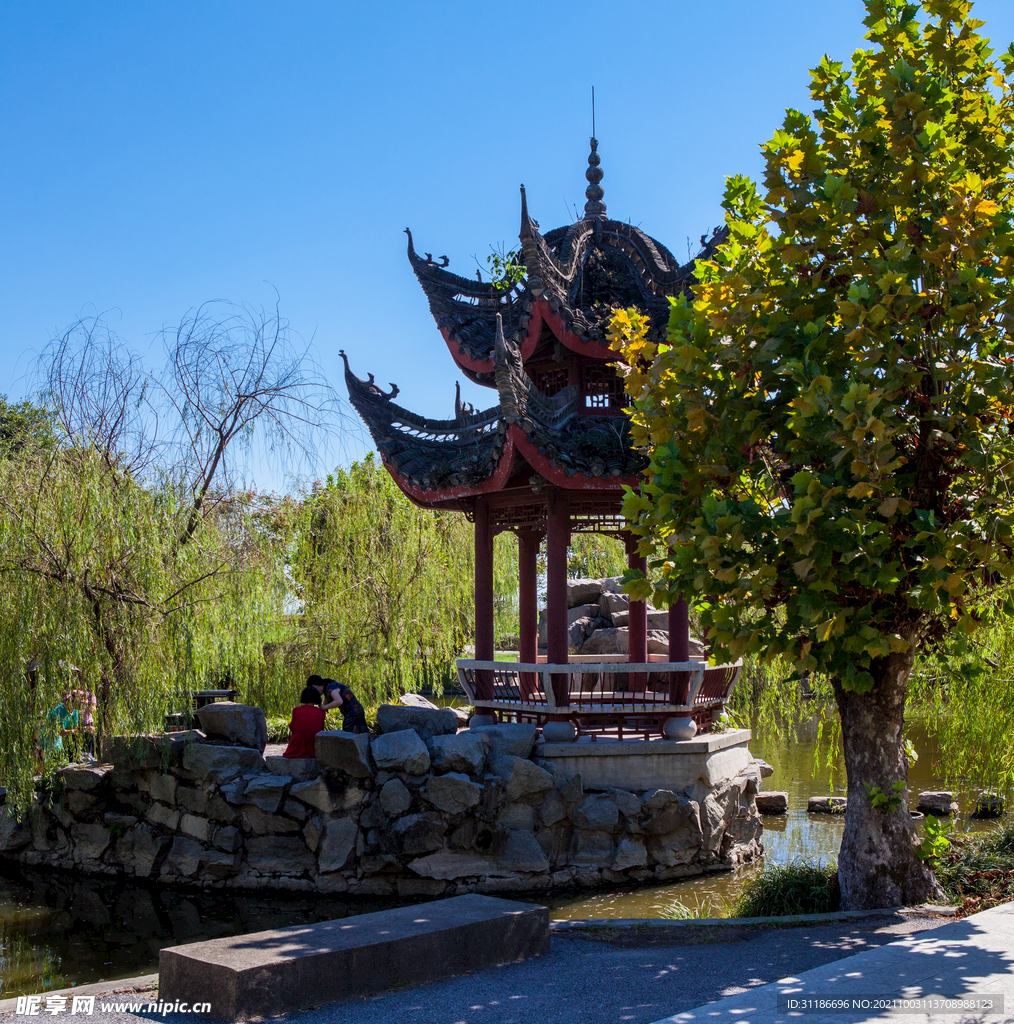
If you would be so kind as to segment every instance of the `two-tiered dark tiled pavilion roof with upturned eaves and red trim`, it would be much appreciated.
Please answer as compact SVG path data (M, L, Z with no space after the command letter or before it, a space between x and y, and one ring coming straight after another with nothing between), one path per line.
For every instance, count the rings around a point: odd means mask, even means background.
M419 256L408 232L409 259L455 361L471 380L496 389L497 404L475 412L459 397L451 420L417 416L395 404L396 386L384 392L373 374L361 379L341 353L352 406L398 485L419 504L467 508L479 494L538 493L546 482L616 502L625 484L639 482L647 460L630 444L629 420L618 408L622 387L607 409L587 403L582 389L589 367L600 368L599 386L615 373L616 353L605 342L612 311L638 307L650 321L649 337L663 338L669 299L692 281L694 260L681 265L640 228L606 217L594 138L591 145L588 202L577 223L543 236L521 187L525 274L506 293L451 273L447 257ZM702 238L698 258L709 257L723 238L724 230ZM572 383L541 389L530 370L564 362L565 350L580 365Z

